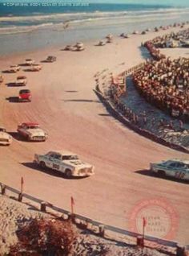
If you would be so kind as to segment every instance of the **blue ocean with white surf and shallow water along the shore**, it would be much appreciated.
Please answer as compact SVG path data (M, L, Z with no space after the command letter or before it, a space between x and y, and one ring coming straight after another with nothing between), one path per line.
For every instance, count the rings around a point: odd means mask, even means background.
M0 55L186 22L189 7L0 2Z

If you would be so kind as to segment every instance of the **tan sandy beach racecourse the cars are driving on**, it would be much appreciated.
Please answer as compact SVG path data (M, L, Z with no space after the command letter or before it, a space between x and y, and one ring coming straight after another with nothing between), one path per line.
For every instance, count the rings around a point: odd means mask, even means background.
M103 47L95 46L96 40L84 42L83 52L50 47L2 57L2 70L10 64L22 64L28 58L40 63L52 55L57 61L42 63L40 72L24 72L22 67L19 73L3 74L0 123L14 134L21 122L38 122L49 138L46 142L24 142L15 136L10 147L0 147L1 182L19 188L23 177L24 192L63 209L70 209L70 196L74 196L78 214L123 229L130 228L131 212L141 201L165 200L174 209L177 223L171 223L175 225L172 236L164 238L188 244L187 184L159 179L148 171L151 162L188 159L188 155L151 142L124 127L107 113L93 91L97 72L107 79L111 72L118 74L139 64L144 60L141 42L170 31L179 31L179 27L131 35L129 39L116 36L113 43ZM62 47L65 46L62 42ZM27 88L33 97L29 103L7 100L18 96L19 88L6 86L18 74L27 76ZM92 163L95 175L66 180L53 171L36 169L32 163L35 153L58 149L73 151Z

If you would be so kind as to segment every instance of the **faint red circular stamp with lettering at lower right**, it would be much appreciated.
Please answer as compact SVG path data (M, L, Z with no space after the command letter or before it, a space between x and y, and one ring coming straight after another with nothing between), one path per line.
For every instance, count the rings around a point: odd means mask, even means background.
M175 239L179 217L164 199L142 200L131 209L129 229L135 233L162 239Z

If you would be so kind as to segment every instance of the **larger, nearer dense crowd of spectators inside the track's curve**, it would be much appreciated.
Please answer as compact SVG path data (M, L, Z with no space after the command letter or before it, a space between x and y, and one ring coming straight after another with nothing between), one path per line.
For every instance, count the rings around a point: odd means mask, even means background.
M175 117L189 118L189 59L147 61L133 73L139 93Z

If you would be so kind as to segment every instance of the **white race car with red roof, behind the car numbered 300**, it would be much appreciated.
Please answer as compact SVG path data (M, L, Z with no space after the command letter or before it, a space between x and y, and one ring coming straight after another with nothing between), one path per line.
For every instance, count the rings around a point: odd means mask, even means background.
M27 141L44 142L48 138L47 133L36 122L23 122L18 126L17 131Z

